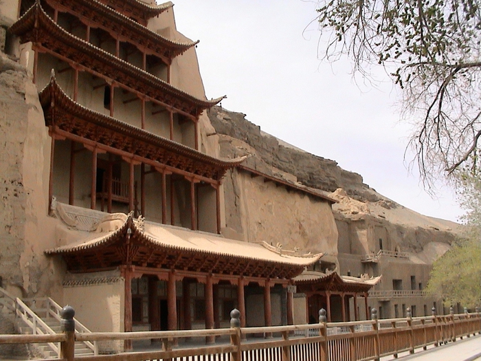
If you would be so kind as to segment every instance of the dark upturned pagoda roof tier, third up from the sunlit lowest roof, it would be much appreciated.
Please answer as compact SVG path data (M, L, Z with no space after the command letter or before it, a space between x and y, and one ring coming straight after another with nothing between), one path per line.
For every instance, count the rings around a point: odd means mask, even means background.
M214 100L195 98L164 80L123 61L63 30L45 13L40 3L35 3L23 17L10 27L23 42L32 41L47 53L71 63L86 72L113 80L119 87L152 100L169 109L197 118L204 109L216 105L224 97Z

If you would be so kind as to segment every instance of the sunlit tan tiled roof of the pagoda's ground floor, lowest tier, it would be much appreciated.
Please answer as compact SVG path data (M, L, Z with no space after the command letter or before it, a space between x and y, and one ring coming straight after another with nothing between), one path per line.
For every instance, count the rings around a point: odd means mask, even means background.
M139 224L131 216L121 213L107 216L96 231L83 232L76 243L45 253L61 254L69 270L78 272L131 264L282 279L300 274L304 267L322 256L293 256L273 252L260 244L234 241L214 234L150 222Z

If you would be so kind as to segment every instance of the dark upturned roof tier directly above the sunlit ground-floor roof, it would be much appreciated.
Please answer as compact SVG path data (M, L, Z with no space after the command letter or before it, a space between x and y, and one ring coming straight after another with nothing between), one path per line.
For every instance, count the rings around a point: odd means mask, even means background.
M47 126L56 127L85 140L91 140L147 158L166 168L180 169L192 175L219 180L228 168L244 158L219 160L188 146L162 138L143 129L92 111L71 100L56 83L54 74L40 93Z

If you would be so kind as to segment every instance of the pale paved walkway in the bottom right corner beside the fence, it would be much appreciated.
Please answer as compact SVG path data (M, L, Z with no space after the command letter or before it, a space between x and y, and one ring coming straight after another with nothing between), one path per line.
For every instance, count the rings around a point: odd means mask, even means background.
M381 358L383 361L393 360L392 356ZM426 351L416 349L414 355L409 352L399 353L400 361L474 361L481 360L481 335L471 336L449 342L439 347L429 347Z

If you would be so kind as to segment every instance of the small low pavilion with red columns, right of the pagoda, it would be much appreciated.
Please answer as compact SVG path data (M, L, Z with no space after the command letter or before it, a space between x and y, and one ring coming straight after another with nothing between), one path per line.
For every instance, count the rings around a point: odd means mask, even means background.
M316 271L304 271L299 276L293 278L293 283L297 287L297 292L306 295L306 320L307 322L317 322L318 311L326 309L327 321L348 321L351 318L349 298L353 298L354 319L359 320L358 300L363 296L368 311L368 292L371 287L381 281L381 276L368 278L339 276L337 272L328 274ZM337 307L333 311L333 304ZM339 308L340 306L340 308Z

